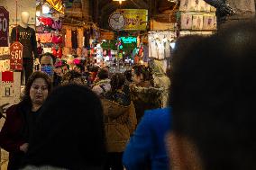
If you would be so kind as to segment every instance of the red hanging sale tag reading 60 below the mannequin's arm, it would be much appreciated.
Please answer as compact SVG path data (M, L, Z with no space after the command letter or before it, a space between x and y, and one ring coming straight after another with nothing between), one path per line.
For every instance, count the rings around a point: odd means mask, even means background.
M20 42L14 42L10 47L12 70L23 70L23 45Z

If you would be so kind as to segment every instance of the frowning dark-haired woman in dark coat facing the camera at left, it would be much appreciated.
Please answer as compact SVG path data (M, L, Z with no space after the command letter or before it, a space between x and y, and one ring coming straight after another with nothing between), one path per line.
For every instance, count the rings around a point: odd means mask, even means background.
M50 90L50 76L34 72L25 86L22 102L6 111L6 121L0 132L0 145L9 152L8 170L16 170L21 166L39 110Z

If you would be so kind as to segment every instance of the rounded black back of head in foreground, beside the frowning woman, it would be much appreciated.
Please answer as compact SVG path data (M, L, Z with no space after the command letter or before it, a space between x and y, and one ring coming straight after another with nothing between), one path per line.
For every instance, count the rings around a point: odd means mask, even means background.
M25 165L101 170L105 162L103 108L87 87L56 88L43 104Z

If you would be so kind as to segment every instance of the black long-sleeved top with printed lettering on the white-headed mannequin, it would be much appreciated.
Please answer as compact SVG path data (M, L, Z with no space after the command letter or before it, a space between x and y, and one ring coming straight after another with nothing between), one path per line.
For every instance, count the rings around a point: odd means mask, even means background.
M11 43L16 40L23 44L23 58L32 58L32 53L35 58L38 57L35 31L31 27L23 28L20 25L14 27L11 33Z

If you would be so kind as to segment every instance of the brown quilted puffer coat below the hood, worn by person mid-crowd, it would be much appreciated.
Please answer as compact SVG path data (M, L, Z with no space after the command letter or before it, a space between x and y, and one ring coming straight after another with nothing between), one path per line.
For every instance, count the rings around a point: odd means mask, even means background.
M137 124L134 105L123 106L106 99L102 104L107 151L123 152Z

